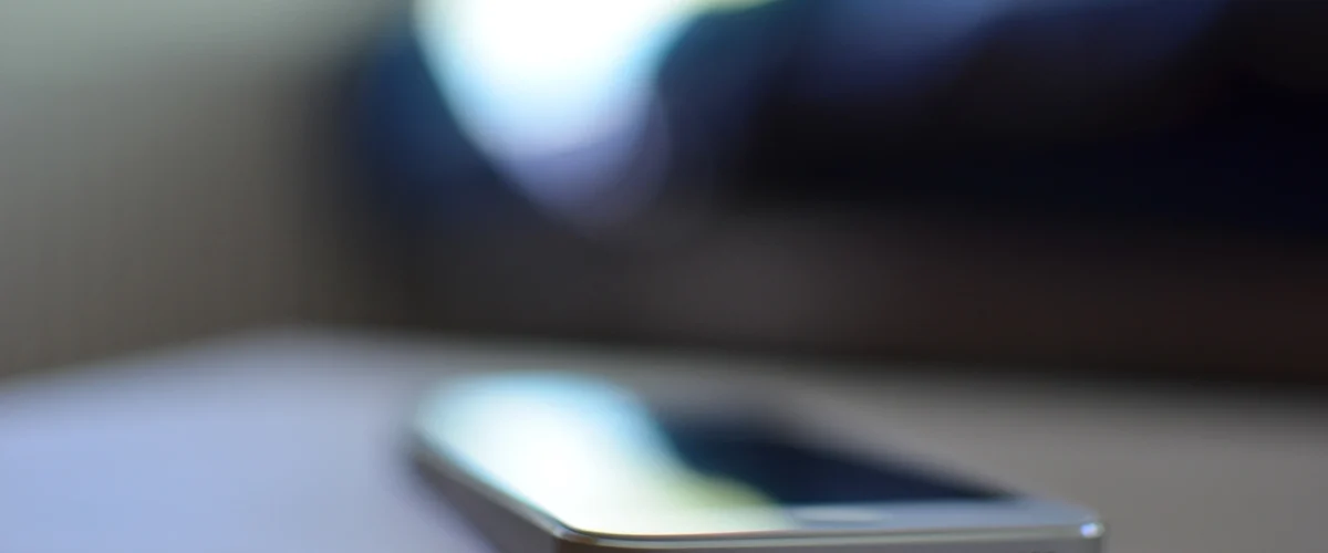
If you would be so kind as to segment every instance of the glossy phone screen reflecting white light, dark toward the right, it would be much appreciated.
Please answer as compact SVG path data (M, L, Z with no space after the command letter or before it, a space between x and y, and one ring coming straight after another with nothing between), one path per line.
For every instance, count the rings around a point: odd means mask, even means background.
M859 459L776 426L671 416L582 377L458 382L430 398L425 443L453 464L568 526L604 534L794 528L798 508L1007 497L915 464Z

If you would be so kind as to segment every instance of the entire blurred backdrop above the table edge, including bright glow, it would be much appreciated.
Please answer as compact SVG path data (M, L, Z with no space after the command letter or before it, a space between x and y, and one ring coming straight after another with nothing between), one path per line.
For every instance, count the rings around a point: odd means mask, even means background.
M1320 382L1325 23L3 0L0 371L324 322Z

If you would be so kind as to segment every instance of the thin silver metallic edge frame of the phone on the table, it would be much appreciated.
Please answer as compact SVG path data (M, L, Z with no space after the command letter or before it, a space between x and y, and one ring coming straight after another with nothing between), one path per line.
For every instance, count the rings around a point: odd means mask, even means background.
M1011 528L963 528L924 532L843 533L801 530L752 536L614 537L575 530L533 505L494 488L436 451L420 432L412 436L413 459L421 475L446 497L498 550L521 553L1100 553L1104 526L1086 511L1077 524ZM1040 501L1040 500L1038 500ZM1080 511L1049 501L1048 508Z

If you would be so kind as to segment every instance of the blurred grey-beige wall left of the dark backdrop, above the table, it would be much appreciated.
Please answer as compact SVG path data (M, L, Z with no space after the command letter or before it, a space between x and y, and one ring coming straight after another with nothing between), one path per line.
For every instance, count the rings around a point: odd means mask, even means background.
M372 305L333 98L385 0L0 0L0 373Z

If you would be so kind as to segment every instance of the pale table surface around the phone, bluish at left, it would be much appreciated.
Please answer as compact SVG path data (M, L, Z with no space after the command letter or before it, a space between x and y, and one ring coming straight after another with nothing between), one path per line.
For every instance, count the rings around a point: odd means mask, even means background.
M490 369L778 381L859 443L1102 511L1116 553L1324 550L1307 400L287 329L4 382L0 552L487 552L412 473L404 420Z

